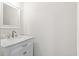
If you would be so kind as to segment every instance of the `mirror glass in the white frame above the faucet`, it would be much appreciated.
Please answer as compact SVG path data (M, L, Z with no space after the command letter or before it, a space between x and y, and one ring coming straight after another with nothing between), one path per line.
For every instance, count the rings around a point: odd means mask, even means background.
M20 9L3 3L3 25L20 25Z

